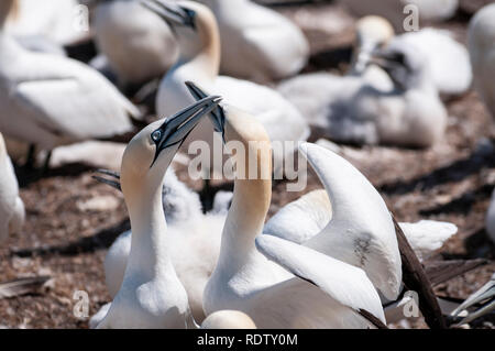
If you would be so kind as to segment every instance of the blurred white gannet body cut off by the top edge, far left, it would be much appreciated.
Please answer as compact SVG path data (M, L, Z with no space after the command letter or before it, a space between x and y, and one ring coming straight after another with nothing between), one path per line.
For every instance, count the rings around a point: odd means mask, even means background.
M6 2L6 1L4 1ZM8 2L8 1L7 1ZM88 19L78 11L77 0L16 0L16 11L6 24L6 31L16 36L42 36L57 44L72 44L88 36L78 24Z

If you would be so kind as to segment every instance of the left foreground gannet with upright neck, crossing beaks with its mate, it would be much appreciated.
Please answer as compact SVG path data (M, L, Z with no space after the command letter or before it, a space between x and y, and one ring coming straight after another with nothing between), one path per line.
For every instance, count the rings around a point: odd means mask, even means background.
M122 156L121 187L133 231L122 285L97 328L195 326L187 293L170 260L162 206L166 169L189 132L218 103L210 97L136 134Z

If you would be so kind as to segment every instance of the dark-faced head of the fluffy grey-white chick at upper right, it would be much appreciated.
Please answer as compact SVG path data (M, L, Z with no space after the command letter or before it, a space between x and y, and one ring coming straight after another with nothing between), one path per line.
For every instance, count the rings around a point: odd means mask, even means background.
M384 48L374 50L370 64L382 67L404 90L422 84L429 70L428 59L424 54L411 45L396 40Z

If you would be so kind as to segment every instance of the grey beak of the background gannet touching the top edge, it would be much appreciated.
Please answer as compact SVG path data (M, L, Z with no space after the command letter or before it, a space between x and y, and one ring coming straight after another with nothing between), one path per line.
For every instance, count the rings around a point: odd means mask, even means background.
M167 0L140 0L140 2L169 24L186 25L193 29L196 28L195 11L185 9Z

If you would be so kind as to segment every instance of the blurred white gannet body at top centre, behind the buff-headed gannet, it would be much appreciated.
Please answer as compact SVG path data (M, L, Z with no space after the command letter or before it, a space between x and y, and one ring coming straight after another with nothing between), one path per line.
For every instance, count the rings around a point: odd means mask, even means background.
M282 14L249 0L200 2L217 18L222 74L266 83L293 76L306 65L309 44Z

